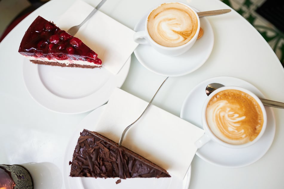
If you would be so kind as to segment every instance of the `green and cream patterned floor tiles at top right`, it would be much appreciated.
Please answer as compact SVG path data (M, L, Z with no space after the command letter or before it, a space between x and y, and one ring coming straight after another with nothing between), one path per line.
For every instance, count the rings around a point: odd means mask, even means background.
M256 13L265 0L220 0L236 10L251 25L253 25L262 37L273 49L281 64L284 67L284 33L278 30L273 24Z

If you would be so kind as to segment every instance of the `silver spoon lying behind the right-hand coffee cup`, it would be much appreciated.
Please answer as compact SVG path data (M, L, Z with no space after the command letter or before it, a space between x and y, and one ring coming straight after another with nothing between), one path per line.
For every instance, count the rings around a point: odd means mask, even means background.
M211 84L207 85L205 92L206 92L207 96L209 96L209 94L211 94L213 91L215 91L216 89L223 87L223 86L225 86L225 85L222 85L220 83L211 83ZM271 107L274 107L274 108L284 109L284 103L282 103L282 102L277 102L277 101L274 101L274 100L267 100L267 99L264 99L264 98L259 98L259 99L263 103L263 105L265 105L265 106L271 106Z

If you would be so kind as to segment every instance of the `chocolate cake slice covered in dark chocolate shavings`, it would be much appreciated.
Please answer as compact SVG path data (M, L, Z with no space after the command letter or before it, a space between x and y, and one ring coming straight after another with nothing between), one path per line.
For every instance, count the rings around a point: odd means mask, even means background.
M74 150L70 176L120 179L171 177L166 170L116 142L84 129Z

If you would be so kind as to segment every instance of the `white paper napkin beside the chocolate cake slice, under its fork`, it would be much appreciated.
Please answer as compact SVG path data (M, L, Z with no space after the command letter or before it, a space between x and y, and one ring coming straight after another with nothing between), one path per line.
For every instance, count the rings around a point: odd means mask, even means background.
M94 131L119 142L123 130L144 111L148 102L116 88ZM183 179L204 131L151 105L125 134L122 145Z

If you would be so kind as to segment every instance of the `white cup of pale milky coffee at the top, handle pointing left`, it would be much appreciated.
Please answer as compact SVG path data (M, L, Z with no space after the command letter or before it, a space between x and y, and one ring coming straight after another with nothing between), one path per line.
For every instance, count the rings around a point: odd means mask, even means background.
M178 56L194 45L199 29L197 12L185 3L172 1L152 9L145 20L145 30L136 32L133 38L164 55Z

